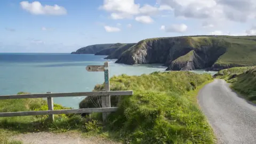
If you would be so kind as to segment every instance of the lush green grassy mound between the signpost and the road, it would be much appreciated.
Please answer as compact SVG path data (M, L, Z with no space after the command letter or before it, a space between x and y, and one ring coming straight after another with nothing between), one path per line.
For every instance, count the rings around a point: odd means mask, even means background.
M108 129L125 143L213 143L213 132L197 107L197 87L210 75L172 71L141 76L114 76L110 89L133 90L130 97L111 97L118 106L108 118ZM102 91L103 85L95 86ZM193 94L194 93L194 94ZM99 107L87 97L79 107Z

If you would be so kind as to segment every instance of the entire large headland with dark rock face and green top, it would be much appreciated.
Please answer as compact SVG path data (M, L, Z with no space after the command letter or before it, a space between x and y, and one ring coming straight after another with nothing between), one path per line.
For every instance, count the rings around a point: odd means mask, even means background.
M127 65L164 63L167 70L247 66L256 62L254 37L184 36L145 39L116 61Z

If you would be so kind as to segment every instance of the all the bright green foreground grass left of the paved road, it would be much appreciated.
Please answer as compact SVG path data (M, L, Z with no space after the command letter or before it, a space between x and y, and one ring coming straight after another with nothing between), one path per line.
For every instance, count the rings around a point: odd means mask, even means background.
M102 123L102 115L54 115L49 123L47 116L20 116L0 118L0 140L9 141L10 135L20 132L78 131L83 135L122 140L127 143L214 143L214 134L196 103L197 92L203 84L212 81L211 75L198 75L188 71L152 73L141 76L114 76L111 90L133 90L134 95L123 96L118 102L111 97L111 105L118 111ZM96 85L95 91L103 85ZM20 93L22 94L22 93ZM84 100L81 106L94 107ZM46 110L43 99L0 101L0 111ZM69 109L54 104L54 109Z

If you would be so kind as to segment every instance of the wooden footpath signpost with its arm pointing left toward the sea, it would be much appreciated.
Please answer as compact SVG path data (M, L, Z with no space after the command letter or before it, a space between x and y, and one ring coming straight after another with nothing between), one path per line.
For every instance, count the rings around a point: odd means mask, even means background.
M108 62L105 62L104 65L87 66L86 70L87 71L104 71L105 91L110 91ZM101 106L102 106L102 108L109 108L109 107L111 107L111 105L110 105L110 95L101 96ZM103 121L106 120L108 114L109 113L102 113Z

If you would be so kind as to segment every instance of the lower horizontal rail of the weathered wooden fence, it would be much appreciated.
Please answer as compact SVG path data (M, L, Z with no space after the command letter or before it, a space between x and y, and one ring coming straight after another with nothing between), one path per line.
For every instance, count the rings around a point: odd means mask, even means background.
M105 113L105 112L116 111L117 109L118 109L117 107L112 107L112 108L84 108L84 109L43 110L43 111L18 111L18 112L0 113L0 117Z

